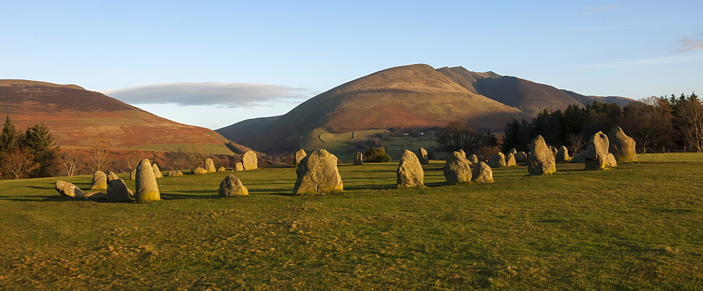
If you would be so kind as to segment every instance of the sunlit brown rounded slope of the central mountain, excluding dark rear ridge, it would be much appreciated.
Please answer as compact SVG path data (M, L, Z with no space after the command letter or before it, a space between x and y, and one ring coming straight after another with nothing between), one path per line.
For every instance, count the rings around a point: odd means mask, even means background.
M314 129L333 132L389 127L443 127L465 120L470 127L501 131L517 108L472 93L430 65L393 67L347 82L298 105L277 119L250 121L217 131L262 151L294 150ZM258 128L258 129L254 129Z

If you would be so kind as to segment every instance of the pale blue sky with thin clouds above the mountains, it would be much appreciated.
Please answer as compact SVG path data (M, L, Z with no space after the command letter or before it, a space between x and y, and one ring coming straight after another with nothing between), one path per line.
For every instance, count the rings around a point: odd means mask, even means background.
M699 0L0 4L0 79L77 84L209 129L416 63L586 95L703 91Z

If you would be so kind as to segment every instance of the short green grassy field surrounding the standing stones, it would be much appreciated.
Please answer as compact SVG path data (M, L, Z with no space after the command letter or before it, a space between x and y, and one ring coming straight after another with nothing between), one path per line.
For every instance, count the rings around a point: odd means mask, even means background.
M639 158L458 186L434 162L411 189L394 163L344 165L328 196L290 196L290 167L237 172L239 198L217 197L228 173L186 175L145 205L0 181L0 289L699 289L703 155Z

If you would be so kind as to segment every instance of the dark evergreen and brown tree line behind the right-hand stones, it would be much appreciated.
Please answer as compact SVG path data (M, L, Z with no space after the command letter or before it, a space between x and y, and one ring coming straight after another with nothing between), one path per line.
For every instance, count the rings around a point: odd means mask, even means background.
M534 136L548 145L567 145L578 153L593 134L607 134L621 127L637 142L640 153L671 150L703 150L703 103L695 93L645 98L621 107L598 101L586 107L569 105L565 110L543 110L531 121L513 119L505 124L503 152L527 151Z

